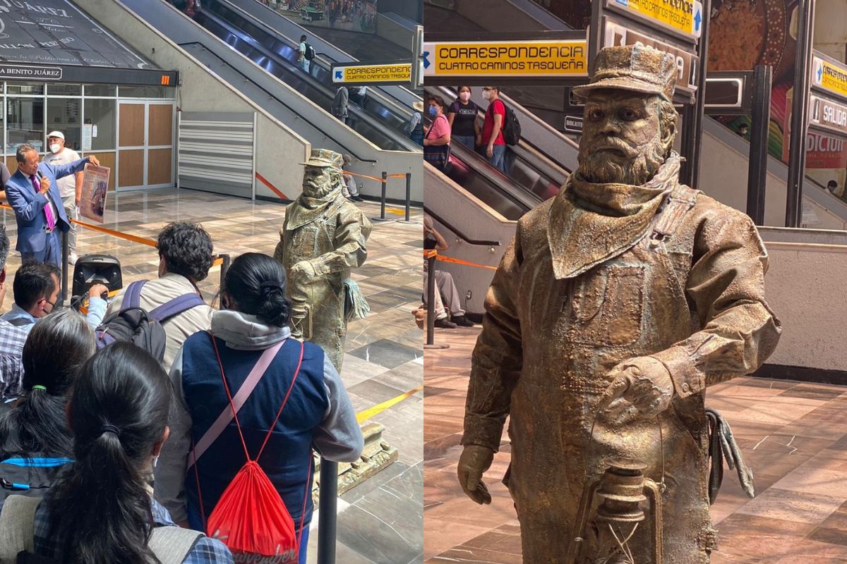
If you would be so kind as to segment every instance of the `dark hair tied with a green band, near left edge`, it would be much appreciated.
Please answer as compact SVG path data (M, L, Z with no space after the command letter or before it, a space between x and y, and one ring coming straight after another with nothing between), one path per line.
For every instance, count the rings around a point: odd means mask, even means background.
M94 348L94 332L72 309L57 309L32 327L21 359L25 396L0 419L0 458L73 452L64 408Z

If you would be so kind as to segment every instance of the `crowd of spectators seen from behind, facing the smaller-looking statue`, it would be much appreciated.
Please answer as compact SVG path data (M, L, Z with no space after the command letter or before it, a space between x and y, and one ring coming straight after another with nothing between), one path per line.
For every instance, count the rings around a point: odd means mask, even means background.
M322 348L291 338L280 262L235 258L213 309L197 286L213 264L208 233L171 223L157 249L158 278L108 305L105 287L91 287L87 316L58 307L53 264L14 273L14 306L0 317L0 538L24 539L19 550L40 562L233 562L226 539L203 532L253 461L290 513L303 564L313 448L338 462L363 449L340 376ZM8 251L0 228L0 302ZM186 295L197 299L160 323L161 359L136 341L107 344L128 310L156 319ZM0 546L0 561L15 550Z

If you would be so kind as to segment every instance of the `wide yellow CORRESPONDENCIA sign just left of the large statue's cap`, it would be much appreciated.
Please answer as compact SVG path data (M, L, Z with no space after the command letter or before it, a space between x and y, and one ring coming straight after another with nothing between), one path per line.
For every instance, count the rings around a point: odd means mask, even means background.
M424 76L588 76L584 39L424 41Z

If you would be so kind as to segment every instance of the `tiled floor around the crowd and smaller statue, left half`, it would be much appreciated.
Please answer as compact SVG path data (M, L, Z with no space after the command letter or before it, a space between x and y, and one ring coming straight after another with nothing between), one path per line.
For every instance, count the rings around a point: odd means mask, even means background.
M379 215L379 205L359 205L368 216ZM2 213L14 249L14 215ZM419 215L415 211L412 219ZM284 206L278 203L167 189L109 194L105 227L155 239L167 222L198 222L212 235L216 253L235 258L247 251L272 255L283 217ZM365 320L348 327L341 374L357 412L413 390L423 381L422 333L410 314L421 293L421 237L419 223L374 222L368 261L352 275L371 307ZM125 285L157 275L156 249L143 244L81 229L79 254L86 253L118 257ZM19 255L12 251L7 263L10 282L19 264ZM201 284L208 300L218 292L219 276L219 269L214 268ZM3 311L11 303L10 288ZM400 459L341 496L337 561L420 562L424 545L423 394L418 392L371 420L385 425L385 441L399 450ZM309 540L308 560L316 562L317 531L313 530Z

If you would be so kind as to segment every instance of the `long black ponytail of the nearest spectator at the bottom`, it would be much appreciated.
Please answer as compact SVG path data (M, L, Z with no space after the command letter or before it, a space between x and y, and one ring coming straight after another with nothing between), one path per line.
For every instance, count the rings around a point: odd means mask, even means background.
M130 342L83 365L69 404L76 463L49 501L66 564L158 562L147 548L153 517L142 473L162 441L170 397L162 367Z

